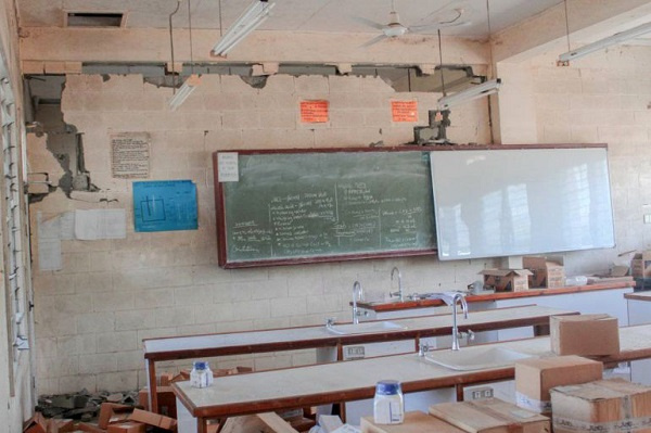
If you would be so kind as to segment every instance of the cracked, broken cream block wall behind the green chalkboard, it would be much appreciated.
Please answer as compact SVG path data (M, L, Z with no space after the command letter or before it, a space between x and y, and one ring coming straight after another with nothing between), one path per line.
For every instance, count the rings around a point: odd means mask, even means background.
M443 264L420 257L220 269L214 151L401 144L412 139L414 125L393 123L390 101L418 100L419 124L425 125L426 112L439 95L396 93L379 78L320 76L272 76L263 89L234 76L204 76L177 112L167 109L171 94L138 75L66 79L64 118L84 133L86 167L101 191L68 199L58 190L34 203L34 257L38 257L38 213L49 218L79 208L126 208L127 239L63 241L60 271L39 271L35 262L39 394L142 385L141 341L146 338L348 319L353 282L359 280L369 297L381 298L390 291L393 266L400 267L409 291L462 289L487 266L485 260ZM304 99L329 100L330 122L302 124L298 104ZM463 122L455 125L450 138L487 142L487 112L485 100L457 109L452 122ZM125 131L151 135L152 180L196 183L199 230L133 232L131 182L111 176L108 136ZM61 174L43 138L29 137L28 156L33 171ZM266 369L314 361L312 351L301 351L230 357L214 367Z

